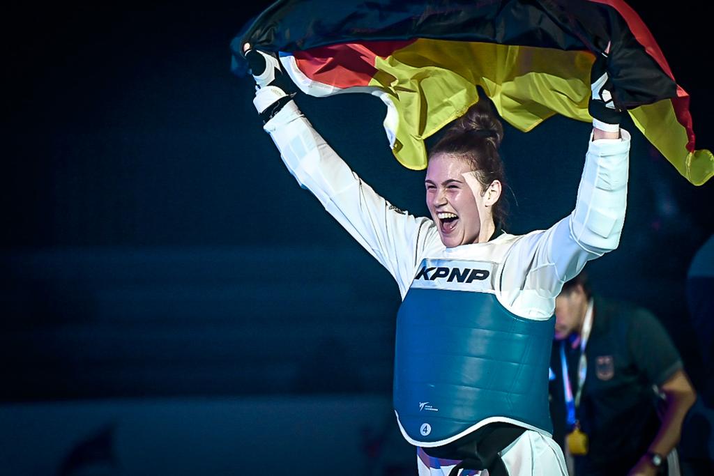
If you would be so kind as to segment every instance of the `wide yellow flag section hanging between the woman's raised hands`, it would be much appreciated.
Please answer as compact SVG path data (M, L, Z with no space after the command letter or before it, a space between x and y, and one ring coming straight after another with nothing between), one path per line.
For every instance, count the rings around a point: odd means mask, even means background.
M407 168L426 167L423 140L462 116L481 86L504 120L530 131L555 113L590 121L593 55L532 46L419 39L377 58L370 86L393 96L393 153Z

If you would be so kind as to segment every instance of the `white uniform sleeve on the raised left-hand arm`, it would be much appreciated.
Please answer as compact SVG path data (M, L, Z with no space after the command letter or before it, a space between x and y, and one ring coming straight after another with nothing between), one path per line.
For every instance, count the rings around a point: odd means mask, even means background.
M387 268L402 295L406 294L421 250L433 242L433 222L399 210L373 191L328 146L293 101L264 128L298 183Z

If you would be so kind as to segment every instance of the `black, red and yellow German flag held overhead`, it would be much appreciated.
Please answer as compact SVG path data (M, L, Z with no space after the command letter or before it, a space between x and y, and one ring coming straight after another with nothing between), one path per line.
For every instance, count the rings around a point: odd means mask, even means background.
M233 39L236 72L245 43L278 52L312 96L380 97L393 153L412 169L477 86L521 131L556 113L591 121L590 69L607 56L615 104L650 143L691 183L714 175L712 153L695 149L688 93L621 0L279 0Z

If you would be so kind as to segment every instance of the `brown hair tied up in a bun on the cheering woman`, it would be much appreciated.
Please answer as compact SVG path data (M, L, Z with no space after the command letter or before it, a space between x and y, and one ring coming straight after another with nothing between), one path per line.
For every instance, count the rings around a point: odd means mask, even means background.
M493 205L493 221L497 226L503 225L508 215L506 173L498 154L502 139L501 121L493 113L488 99L481 98L449 126L429 153L430 158L438 153L448 153L466 161L471 170L476 171L476 178L484 191L491 182L501 182L501 198Z

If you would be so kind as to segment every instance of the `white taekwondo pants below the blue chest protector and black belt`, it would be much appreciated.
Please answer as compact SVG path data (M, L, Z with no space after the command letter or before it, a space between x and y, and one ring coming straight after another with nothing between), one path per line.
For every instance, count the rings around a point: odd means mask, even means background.
M501 455L509 476L568 476L563 451L553 438L526 430ZM419 476L448 476L455 460L430 457L421 448L417 450L416 464ZM487 476L488 470L461 470L460 476Z

